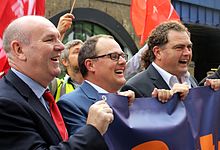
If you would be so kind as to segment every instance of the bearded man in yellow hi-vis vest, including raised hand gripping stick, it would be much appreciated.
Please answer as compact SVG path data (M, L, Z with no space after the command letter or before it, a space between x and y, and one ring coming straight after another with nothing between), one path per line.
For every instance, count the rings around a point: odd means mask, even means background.
M66 13L60 17L57 29L60 32L60 40L63 40L66 31L71 27L74 15ZM49 84L49 89L57 101L63 94L73 91L83 81L78 69L77 57L83 42L72 40L65 44L65 49L61 53L60 67L64 78L56 77Z

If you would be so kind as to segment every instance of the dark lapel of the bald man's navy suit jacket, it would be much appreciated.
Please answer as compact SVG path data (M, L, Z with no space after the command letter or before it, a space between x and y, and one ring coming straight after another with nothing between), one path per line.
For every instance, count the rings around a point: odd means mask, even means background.
M11 70L7 73L6 79L12 84L12 86L24 97L24 100L30 104L30 106L45 120L45 122L54 130L57 136L61 139L59 131L54 124L52 117L47 112L46 108L40 102L38 97L29 88L29 86L24 83L16 74Z

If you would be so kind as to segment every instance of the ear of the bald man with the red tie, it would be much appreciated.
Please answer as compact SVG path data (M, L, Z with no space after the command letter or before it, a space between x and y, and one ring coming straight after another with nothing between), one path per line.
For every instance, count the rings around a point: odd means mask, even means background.
M27 60L27 57L25 56L24 49L19 41L12 41L11 47L13 53L16 55L16 57L20 60Z

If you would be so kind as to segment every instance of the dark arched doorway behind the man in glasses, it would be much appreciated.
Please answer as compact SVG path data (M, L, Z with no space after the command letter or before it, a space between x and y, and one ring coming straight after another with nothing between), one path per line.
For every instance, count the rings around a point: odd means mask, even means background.
M69 10L51 17L50 20L57 25L59 18L67 12ZM92 8L75 8L73 14L76 19L74 19L71 29L67 31L64 43L76 38L84 41L96 34L110 34L130 56L138 51L129 33L110 15Z

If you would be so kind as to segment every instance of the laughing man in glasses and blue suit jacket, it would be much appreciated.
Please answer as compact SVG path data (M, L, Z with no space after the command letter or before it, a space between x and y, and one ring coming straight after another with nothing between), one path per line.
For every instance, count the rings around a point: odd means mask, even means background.
M127 58L112 36L96 35L84 43L78 64L85 81L58 101L69 135L86 124L89 107L100 100L98 93L117 93L124 85ZM132 91L119 94L128 96L129 104L134 100Z

